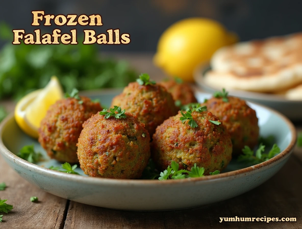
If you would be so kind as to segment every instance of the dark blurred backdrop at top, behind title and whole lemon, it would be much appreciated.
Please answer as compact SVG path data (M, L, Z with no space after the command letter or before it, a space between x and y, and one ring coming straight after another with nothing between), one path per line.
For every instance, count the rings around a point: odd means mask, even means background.
M45 14L100 14L103 26L94 26L97 34L109 28L119 28L129 33L127 45L100 45L105 51L155 51L162 32L174 22L188 17L208 17L220 21L230 31L235 31L241 41L302 31L302 1L300 0L2 0L0 21L11 28L32 33L32 10ZM40 26L50 32L58 26ZM88 26L76 26L78 38ZM73 27L61 26L62 32ZM11 34L13 39L13 34ZM81 41L81 40L78 40ZM0 41L0 47L4 41Z

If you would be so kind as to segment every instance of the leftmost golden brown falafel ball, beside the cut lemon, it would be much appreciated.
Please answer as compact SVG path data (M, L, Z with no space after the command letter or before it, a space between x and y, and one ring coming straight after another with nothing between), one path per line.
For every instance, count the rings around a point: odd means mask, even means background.
M87 97L80 98L58 100L50 106L38 130L41 146L51 158L60 162L79 162L76 143L82 124L102 110L100 103L94 103Z

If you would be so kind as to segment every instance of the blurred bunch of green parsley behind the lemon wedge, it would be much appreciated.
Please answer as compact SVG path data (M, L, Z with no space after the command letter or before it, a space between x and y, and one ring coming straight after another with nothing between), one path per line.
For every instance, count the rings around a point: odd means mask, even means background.
M65 91L125 87L137 73L125 61L100 58L97 45L12 45L11 28L0 24L0 99L20 99L59 78Z

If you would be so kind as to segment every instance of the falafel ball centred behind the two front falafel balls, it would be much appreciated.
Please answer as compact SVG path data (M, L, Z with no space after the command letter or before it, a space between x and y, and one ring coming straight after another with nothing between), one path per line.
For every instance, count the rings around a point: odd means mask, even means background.
M150 136L162 122L177 114L178 108L169 92L159 84L129 83L124 91L113 98L111 106L120 106L137 116L145 124Z

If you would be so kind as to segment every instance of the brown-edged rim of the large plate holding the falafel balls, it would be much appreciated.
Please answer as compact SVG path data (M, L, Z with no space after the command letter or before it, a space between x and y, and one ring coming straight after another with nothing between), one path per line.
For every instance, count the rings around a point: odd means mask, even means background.
M109 90L106 90L106 92L108 92ZM106 93L105 92L105 93ZM207 93L204 93L207 94ZM1 123L0 123L0 152L2 153L2 155L4 157L6 157L8 160L13 161L14 163L17 164L21 164L23 167L25 167L27 170L34 170L35 172L40 173L41 175L47 175L47 176L53 176L54 178L57 176L60 176L61 179L66 179L66 180L73 180L76 182L84 182L86 184L99 184L99 185L155 185L155 184L160 184L160 185L172 185L172 184L194 184L196 182L218 182L221 179L233 179L236 178L236 176L244 176L247 173L252 173L255 172L258 169L261 169L263 167L267 167L269 165L272 165L274 163L277 162L281 162L283 159L285 159L286 157L288 157L292 150L294 149L296 142L297 142L297 133L296 133L296 129L293 125L293 123L283 114L281 114L280 112L271 109L267 106L263 106L261 104L258 103L253 103L250 102L252 104L255 104L257 106L260 106L262 108L265 108L266 110L269 110L270 112L274 113L275 115L279 116L281 119L283 119L283 121L287 124L287 126L290 129L291 132L291 141L289 143L289 145L282 151L280 152L278 155L276 155L275 157L256 164L256 165L252 165L246 168L241 168L238 170L234 170L234 171L230 171L230 172L225 172L225 173L221 173L221 174L217 174L215 176L203 176L203 177L199 177L199 178L190 178L190 179L179 179L179 180L173 180L173 179L169 179L169 180L163 180L163 181L158 181L158 180L143 180L143 179L113 179L113 178L98 178L98 177L89 177L89 176L79 176L79 175L75 175L75 174L68 174L68 173L62 173L56 170L51 170L49 168L44 168L42 166L33 164L31 162L27 162L24 159L21 159L20 157L16 156L14 153L12 153L11 151L9 151L7 149L7 147L4 145L3 142L3 135L4 135L4 127L6 126L6 124L11 121L12 119L14 119L14 112L12 112L11 114L9 114ZM10 166L11 167L11 166Z

